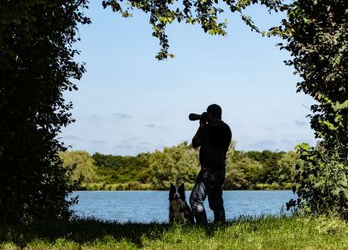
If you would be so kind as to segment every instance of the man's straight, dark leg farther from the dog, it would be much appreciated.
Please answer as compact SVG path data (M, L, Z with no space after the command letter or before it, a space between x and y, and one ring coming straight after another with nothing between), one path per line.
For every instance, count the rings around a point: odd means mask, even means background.
M222 186L212 187L208 194L209 208L214 211L214 223L226 222L225 208L223 208Z

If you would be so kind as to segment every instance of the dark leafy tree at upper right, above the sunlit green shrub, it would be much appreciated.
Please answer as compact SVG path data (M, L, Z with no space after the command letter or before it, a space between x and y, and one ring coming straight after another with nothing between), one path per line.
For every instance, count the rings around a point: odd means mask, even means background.
M287 8L288 19L271 29L294 57L285 63L301 77L297 91L313 97L311 127L322 146L340 145L348 152L348 3L345 0L298 0Z

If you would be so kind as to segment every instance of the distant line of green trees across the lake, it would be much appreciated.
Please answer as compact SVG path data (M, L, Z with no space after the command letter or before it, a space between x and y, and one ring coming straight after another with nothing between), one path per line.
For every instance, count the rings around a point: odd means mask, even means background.
M136 156L60 153L64 166L74 166L72 180L82 178L82 190L168 189L171 183L193 187L200 170L199 151L187 142ZM225 189L290 189L294 152L239 151L231 144L226 159Z

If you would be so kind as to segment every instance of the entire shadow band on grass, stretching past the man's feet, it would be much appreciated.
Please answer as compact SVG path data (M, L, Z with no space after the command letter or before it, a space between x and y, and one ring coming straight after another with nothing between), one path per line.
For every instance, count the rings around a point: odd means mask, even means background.
M223 230L232 224L249 224L250 230L255 230L266 219L274 220L275 217L239 217L228 221L226 224L209 224L208 228L192 224L168 224L152 222L148 224L117 221L107 221L93 217L74 217L70 221L51 221L27 226L0 226L0 239L3 242L13 242L18 247L26 247L33 240L44 240L54 243L59 238L71 240L78 244L88 244L95 241L104 241L111 236L114 240L128 240L136 247L143 247L143 237L156 240L163 237L166 231L180 228L180 232L203 232L207 237L214 237L216 231ZM280 219L280 217L277 217ZM285 217L283 217L285 219ZM289 219L289 218L288 218ZM251 226L251 227L250 227Z

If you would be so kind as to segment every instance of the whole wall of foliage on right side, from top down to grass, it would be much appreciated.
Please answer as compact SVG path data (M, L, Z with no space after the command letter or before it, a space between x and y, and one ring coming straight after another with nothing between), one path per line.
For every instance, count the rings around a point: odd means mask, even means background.
M320 141L317 147L306 143L297 147L303 165L297 165L293 189L299 199L289 205L320 214L335 211L345 217L348 217L347 14L345 0L297 0L288 6L288 18L283 19L282 26L271 29L271 34L286 41L285 45L280 43L280 49L293 56L286 64L294 66L301 77L297 91L317 101L310 107L313 112L310 125Z

